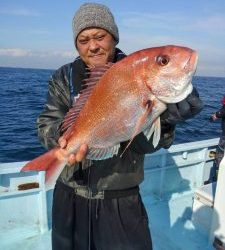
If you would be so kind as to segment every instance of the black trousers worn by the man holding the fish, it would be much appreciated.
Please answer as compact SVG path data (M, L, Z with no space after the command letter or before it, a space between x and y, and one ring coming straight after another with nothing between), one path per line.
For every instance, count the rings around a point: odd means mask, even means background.
M139 194L86 199L56 184L52 250L151 250L148 218Z

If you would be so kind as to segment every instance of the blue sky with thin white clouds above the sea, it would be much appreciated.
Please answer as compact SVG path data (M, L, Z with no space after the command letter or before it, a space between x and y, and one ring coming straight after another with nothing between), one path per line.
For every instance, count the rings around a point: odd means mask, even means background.
M56 69L72 61L78 0L1 0L0 66ZM225 76L224 0L113 0L125 53L176 44L199 54L197 75Z

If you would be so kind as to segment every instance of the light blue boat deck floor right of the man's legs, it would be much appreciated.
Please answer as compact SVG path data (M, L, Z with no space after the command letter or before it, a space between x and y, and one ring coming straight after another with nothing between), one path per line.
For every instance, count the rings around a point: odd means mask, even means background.
M144 197L155 250L211 250L207 235L193 224L193 194L156 201Z

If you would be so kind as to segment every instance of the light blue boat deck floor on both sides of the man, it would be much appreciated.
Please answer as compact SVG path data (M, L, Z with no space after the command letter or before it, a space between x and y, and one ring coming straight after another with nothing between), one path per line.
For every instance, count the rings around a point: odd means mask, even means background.
M206 235L200 234L191 221L193 194L180 197L144 196L154 250L211 250ZM29 230L29 228L27 228ZM30 230L32 231L32 230ZM13 237L1 241L1 250L49 250L51 249L51 231L38 236L22 239L22 232L11 232ZM16 234L19 233L18 238ZM6 235L5 235L6 236ZM3 236L4 237L4 236Z

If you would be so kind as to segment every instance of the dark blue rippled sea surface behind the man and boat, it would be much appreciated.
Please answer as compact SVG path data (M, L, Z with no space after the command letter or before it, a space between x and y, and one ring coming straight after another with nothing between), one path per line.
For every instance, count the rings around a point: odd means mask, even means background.
M31 160L45 152L37 138L36 119L43 110L53 70L0 67L0 162ZM219 137L220 121L209 117L221 107L225 78L193 79L204 102L196 117L177 125L174 144Z

